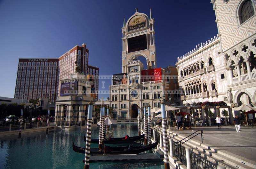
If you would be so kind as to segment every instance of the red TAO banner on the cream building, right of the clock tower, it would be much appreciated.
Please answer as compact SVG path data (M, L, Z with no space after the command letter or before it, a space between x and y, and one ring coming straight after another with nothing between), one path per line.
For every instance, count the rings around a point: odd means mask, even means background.
M162 80L162 68L142 70L141 71L141 80L142 80L142 82Z

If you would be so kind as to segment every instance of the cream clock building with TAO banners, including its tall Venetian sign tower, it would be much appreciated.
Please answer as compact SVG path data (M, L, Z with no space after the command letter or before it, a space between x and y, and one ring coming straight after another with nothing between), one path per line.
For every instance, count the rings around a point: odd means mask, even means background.
M160 107L160 99L180 103L176 66L156 67L154 19L136 12L122 28L122 73L114 74L109 86L109 101L113 117L137 118L138 107ZM147 68L142 60L146 59ZM144 62L145 63L145 62ZM103 104L103 101L96 102Z

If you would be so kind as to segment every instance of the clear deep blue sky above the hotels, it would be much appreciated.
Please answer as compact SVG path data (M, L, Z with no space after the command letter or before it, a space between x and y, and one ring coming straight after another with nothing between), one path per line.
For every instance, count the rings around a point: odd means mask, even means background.
M157 67L175 65L178 56L218 33L210 0L0 0L0 96L14 97L18 58L58 58L83 43L101 75L122 73L123 18L135 8L148 16L152 8Z

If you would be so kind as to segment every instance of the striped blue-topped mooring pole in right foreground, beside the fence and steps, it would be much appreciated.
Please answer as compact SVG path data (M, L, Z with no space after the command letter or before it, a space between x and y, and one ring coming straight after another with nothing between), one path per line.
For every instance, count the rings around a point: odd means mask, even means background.
M164 142L164 169L169 169L169 157L168 157L168 138L167 138L167 126L166 126L166 114L165 103L161 102L161 114L162 114L162 134Z

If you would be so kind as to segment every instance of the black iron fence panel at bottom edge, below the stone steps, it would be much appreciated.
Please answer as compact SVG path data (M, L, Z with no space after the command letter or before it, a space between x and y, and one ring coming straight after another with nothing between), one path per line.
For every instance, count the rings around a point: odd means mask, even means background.
M190 164L193 169L217 169L217 164L212 163L192 151L190 151Z

